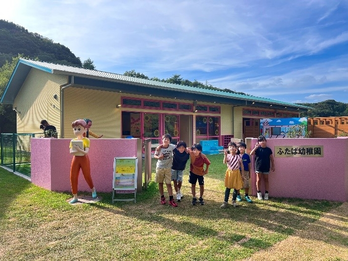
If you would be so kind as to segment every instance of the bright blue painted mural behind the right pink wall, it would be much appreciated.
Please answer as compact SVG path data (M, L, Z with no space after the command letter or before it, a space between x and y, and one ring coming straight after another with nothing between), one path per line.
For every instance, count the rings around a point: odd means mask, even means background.
M260 119L260 135L265 138L286 138L291 126L302 125L303 136L307 131L307 118L267 118Z

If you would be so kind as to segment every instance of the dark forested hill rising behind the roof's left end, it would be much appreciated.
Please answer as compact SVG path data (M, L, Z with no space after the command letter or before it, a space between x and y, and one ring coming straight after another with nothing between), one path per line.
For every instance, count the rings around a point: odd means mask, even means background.
M37 33L30 33L12 22L0 20L0 67L18 54L44 62L82 67L80 58L64 45Z

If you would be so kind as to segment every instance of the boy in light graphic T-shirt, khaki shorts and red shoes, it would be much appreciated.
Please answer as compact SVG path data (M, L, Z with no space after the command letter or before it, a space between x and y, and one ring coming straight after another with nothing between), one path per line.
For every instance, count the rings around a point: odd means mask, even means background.
M177 207L173 199L173 188L172 188L172 157L173 150L176 147L171 144L172 136L170 134L164 134L162 136L162 144L156 148L154 157L158 159L156 164L156 178L155 182L158 182L158 189L161 194L161 204L167 203L166 197L164 196L163 183L166 182L167 190L169 194L169 204Z

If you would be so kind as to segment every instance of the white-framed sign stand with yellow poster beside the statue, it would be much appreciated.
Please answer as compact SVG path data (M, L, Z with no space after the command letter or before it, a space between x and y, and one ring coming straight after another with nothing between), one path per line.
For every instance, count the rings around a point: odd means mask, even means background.
M112 203L137 200L137 157L115 157L113 162ZM118 194L134 193L134 198L115 198Z

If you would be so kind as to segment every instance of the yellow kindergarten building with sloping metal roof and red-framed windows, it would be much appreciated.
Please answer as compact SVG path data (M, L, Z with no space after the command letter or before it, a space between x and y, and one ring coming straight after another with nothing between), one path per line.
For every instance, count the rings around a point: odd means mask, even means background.
M248 92L248 90L246 90ZM260 119L299 117L312 109L267 98L209 90L20 59L0 100L12 104L18 133L40 132L42 119L72 138L71 123L91 119L105 138L151 138L164 133L188 145L260 135Z

